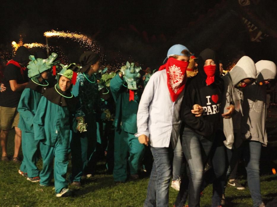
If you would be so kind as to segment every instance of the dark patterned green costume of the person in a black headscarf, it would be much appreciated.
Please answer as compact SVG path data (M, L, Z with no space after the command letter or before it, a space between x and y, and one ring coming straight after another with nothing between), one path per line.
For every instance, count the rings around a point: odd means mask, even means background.
M95 75L89 77L79 73L72 93L79 100L75 116L84 117L87 123L87 132L74 132L71 141L71 182L80 182L83 174L93 174L95 168L95 149L99 135L94 112L101 102Z

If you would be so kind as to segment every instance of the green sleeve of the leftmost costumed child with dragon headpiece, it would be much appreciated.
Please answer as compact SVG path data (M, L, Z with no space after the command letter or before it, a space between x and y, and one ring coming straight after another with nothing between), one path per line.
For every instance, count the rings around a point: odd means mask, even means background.
M21 98L17 107L17 111L20 113L20 116L23 118L25 124L28 127L33 126L34 113L32 112L30 106L31 99L31 90L26 88L21 94Z

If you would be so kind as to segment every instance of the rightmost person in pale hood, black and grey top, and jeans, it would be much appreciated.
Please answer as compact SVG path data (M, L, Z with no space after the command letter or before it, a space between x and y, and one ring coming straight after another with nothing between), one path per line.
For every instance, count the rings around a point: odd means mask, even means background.
M252 85L243 88L243 119L251 136L244 136L240 148L243 153L247 172L247 183L251 193L253 206L265 206L260 190L260 156L262 145L268 143L265 127L266 121L266 85L276 77L276 64L268 60L260 60L256 64L257 79ZM250 159L251 158L251 159Z

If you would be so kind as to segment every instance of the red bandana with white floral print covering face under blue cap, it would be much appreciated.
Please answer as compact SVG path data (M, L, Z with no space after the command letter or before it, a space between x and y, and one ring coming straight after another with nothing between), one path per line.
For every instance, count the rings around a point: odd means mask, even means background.
M166 70L167 87L173 102L176 101L185 87L186 70L189 62L180 61L173 57L168 58L167 62L160 66L159 70Z

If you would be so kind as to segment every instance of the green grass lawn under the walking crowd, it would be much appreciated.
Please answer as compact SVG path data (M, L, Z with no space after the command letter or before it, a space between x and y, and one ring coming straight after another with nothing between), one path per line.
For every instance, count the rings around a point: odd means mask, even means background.
M8 138L9 156L13 154L13 137L14 131L12 130ZM277 152L276 148L262 151L261 192L265 202L277 196L276 175L270 172L273 165L276 166L272 162L276 160L274 151ZM69 185L74 193L72 197L56 198L54 186L41 187L38 183L31 183L18 174L19 164L0 161L0 206L143 206L149 178L115 185L112 175L107 174L104 164L104 161L98 163L96 175L84 180L84 185L80 189ZM38 166L41 169L41 159ZM69 172L70 170L71 164L69 163ZM241 174L241 183L246 184L245 172L242 171ZM173 206L177 193L170 188L169 206ZM211 206L211 194L212 187L209 185L201 198L201 206ZM248 188L236 190L227 187L225 195L225 206L252 206Z

